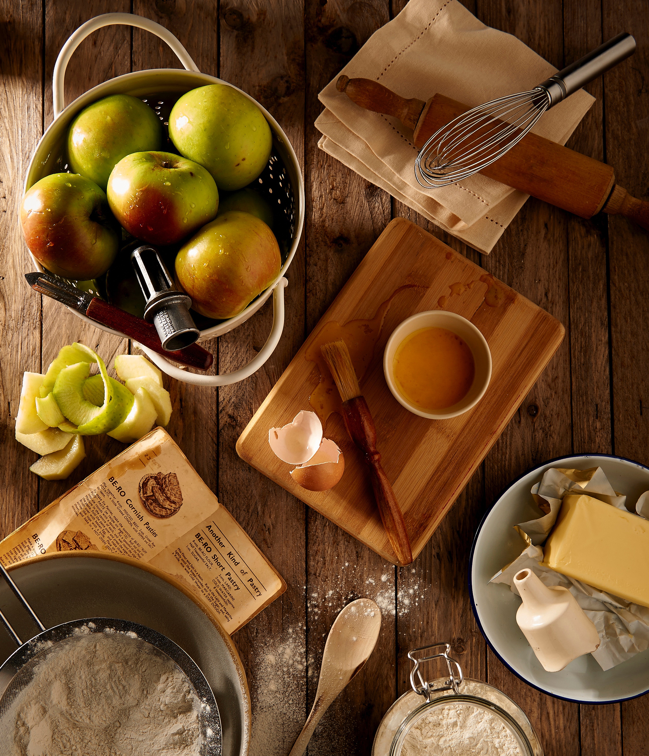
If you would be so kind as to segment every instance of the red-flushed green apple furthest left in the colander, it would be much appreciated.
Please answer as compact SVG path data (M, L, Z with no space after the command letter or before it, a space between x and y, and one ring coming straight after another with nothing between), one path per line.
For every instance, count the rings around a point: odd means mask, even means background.
M20 225L38 262L73 280L106 273L121 239L106 194L74 173L53 173L37 181L20 203Z

